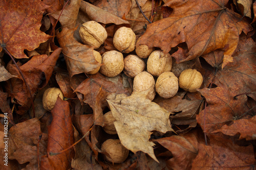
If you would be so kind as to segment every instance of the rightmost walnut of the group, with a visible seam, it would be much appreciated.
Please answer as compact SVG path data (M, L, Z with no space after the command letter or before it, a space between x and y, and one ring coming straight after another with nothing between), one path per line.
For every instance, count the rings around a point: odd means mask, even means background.
M203 83L203 77L196 69L185 69L181 72L179 77L180 88L189 92L196 92Z

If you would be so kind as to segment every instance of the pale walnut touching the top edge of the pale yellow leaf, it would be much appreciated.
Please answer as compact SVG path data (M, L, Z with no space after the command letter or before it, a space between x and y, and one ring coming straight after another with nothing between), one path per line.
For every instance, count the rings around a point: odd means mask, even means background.
M147 98L153 100L156 95L155 90L155 79L146 71L142 71L140 74L135 76L133 81L133 91L141 92L148 90Z

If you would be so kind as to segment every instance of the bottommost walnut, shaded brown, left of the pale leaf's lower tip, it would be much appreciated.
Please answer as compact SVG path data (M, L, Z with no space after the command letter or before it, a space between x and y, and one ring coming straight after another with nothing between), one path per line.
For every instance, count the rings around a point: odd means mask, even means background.
M129 150L123 147L119 139L108 139L101 145L101 151L109 162L122 163L129 156Z

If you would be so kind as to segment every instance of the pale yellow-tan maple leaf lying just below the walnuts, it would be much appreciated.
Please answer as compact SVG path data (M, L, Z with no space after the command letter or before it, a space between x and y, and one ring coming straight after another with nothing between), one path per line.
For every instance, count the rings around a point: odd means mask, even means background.
M146 93L112 94L107 99L117 134L124 147L133 153L142 151L158 162L150 139L152 131L173 131L170 127L170 112L146 98Z

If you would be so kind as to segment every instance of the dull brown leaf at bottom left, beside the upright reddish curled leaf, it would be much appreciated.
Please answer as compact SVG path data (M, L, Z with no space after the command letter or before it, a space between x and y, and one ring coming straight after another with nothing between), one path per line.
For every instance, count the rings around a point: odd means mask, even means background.
M9 130L9 158L16 159L20 164L29 162L26 166L27 169L37 169L36 145L40 135L42 137L39 141L39 159L46 154L47 134L41 132L38 118L32 118L11 127Z

